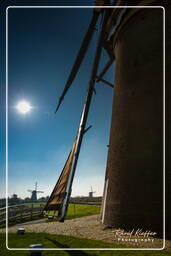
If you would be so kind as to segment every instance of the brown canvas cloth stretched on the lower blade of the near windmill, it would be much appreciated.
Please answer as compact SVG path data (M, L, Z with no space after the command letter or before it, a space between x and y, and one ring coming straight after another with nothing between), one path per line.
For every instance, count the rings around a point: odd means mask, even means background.
M47 204L45 205L44 211L49 211L49 210L60 211L61 210L61 206L66 197L66 189L67 189L67 184L69 182L69 175L71 172L71 166L72 166L72 162L73 162L75 146L76 146L76 140L74 141L74 144L69 153L69 156L64 165L64 168L61 172L61 175L59 176L59 179L50 195L50 198L49 198Z

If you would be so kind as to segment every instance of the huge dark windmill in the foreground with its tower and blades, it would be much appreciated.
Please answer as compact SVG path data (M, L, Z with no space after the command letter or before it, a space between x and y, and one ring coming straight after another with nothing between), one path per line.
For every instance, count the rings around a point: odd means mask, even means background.
M153 8L148 11L147 8L125 8L128 2L132 6L146 6L153 2L157 4L157 0L110 2L104 0L101 5L113 5L114 8L93 9L87 33L59 98L56 111L79 71L96 24L100 24L79 129L44 210L57 210L60 221L65 219L82 140L91 127L87 128L86 125L92 97L96 92L95 84L102 82L112 89L115 87L102 223L128 230L140 226L162 234L162 15ZM99 18L101 22L98 23ZM154 35L157 37L154 38ZM102 48L107 51L109 60L99 73ZM115 86L104 79L114 60ZM167 65L169 67L168 62ZM170 79L167 79L169 84Z

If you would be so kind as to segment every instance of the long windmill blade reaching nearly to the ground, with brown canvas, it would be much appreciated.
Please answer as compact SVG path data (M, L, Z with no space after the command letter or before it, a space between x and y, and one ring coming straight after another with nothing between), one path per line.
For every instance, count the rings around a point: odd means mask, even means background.
M67 208L68 208L69 199L72 191L72 183L75 175L75 170L77 167L77 161L80 153L83 136L85 132L90 128L88 127L86 129L86 123L88 119L88 113L90 109L93 92L94 92L94 86L96 82L97 71L98 71L98 66L99 66L99 61L100 61L100 56L101 56L102 46L103 46L103 40L105 35L105 27L108 19L108 12L106 10L107 9L103 9L103 12L102 12L101 29L100 29L99 37L97 40L96 52L94 56L92 71L91 71L90 80L88 83L88 90L85 97L85 103L83 106L83 111L81 115L77 137L74 141L74 145L66 161L64 169L58 179L58 182L56 183L56 186L44 208L45 211L58 210L59 211L58 216L60 217L61 222L64 221L67 214ZM66 87L64 88L63 93L64 94L66 93ZM59 105L60 105L60 102L59 102Z

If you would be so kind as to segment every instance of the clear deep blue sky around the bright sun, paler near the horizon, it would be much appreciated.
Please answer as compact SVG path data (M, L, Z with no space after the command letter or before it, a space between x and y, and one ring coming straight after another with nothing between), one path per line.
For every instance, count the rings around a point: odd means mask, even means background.
M89 2L92 4L86 4ZM64 3L67 5L67 1ZM35 181L38 189L49 195L60 175L78 128L98 31L56 115L54 110L91 15L92 9L9 9L9 195L30 196L27 189L32 189ZM4 42L2 49L3 46ZM103 52L100 68L106 61ZM113 82L114 67L106 79ZM0 85L4 96L5 76ZM96 195L103 192L113 90L98 83L96 91L88 119L88 125L93 127L83 140L74 196L87 195L91 186ZM26 115L14 108L23 99L34 106ZM4 136L4 98L1 105ZM2 148L5 149L4 139ZM4 156L1 160L0 192L4 196Z

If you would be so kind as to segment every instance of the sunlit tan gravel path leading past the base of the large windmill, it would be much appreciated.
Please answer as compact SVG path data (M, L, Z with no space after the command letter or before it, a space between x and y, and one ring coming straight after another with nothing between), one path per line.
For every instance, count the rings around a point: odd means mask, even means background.
M50 234L61 234L82 238L89 238L95 240L101 240L109 243L117 242L114 235L114 229L103 229L100 222L99 215L92 215L87 217L81 217L61 222L29 222L22 223L20 227L25 228L26 232L45 232ZM16 233L18 226L9 227L9 232ZM0 229L0 233L5 232L5 229ZM128 242L126 243L128 245ZM155 239L153 243L141 242L129 242L134 246L161 248L162 240ZM166 241L166 248L171 249L171 241Z

